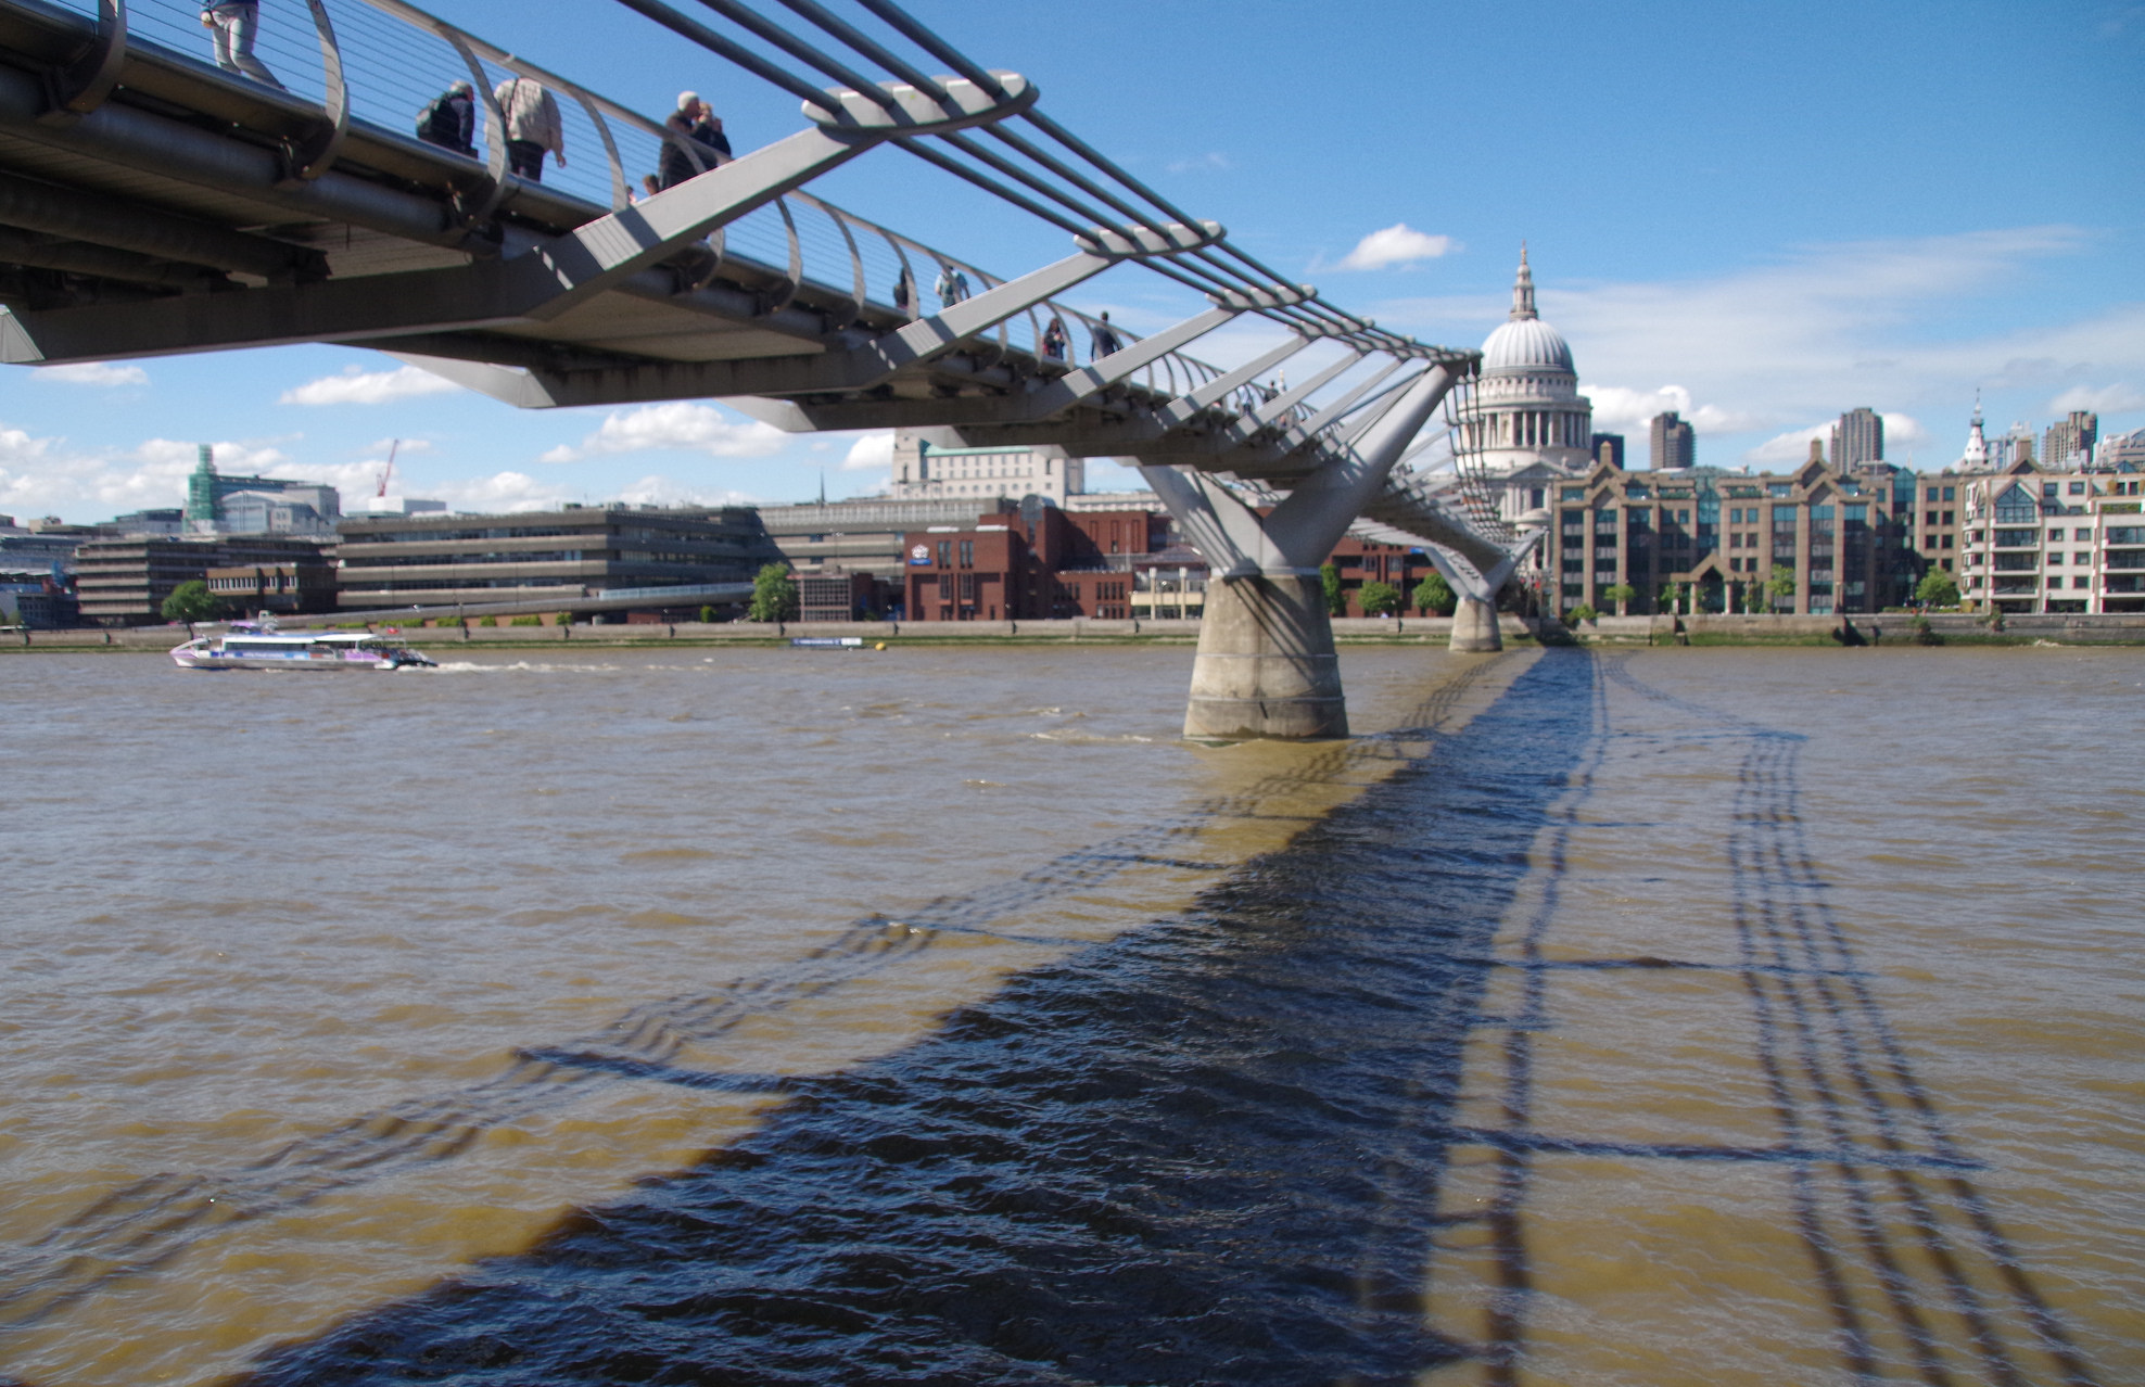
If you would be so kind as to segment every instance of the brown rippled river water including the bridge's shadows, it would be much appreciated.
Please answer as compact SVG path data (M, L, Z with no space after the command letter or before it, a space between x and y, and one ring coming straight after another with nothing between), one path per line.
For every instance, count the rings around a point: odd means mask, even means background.
M2145 1381L2130 650L0 660L0 1381Z

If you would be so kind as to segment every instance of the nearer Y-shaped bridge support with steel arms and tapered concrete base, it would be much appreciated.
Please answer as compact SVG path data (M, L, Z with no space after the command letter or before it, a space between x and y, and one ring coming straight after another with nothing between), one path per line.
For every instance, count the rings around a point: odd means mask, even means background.
M1319 564L1450 388L1452 371L1433 364L1263 517L1203 472L1141 465L1218 579L1199 624L1186 737L1347 735Z

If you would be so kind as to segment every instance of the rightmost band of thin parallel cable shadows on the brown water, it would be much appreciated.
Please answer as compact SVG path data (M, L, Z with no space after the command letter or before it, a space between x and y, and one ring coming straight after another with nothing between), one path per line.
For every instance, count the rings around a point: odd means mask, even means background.
M1725 834L1729 926L1798 1233L1860 1381L2012 1387L2094 1374L1973 1183L1830 903L1804 827L1804 737L1604 673L1641 707L1740 731Z

